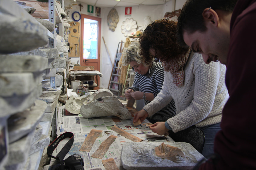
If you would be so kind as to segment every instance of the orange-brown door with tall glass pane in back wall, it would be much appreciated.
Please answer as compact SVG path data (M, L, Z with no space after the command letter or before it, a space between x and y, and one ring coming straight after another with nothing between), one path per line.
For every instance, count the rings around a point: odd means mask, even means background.
M81 66L94 66L94 69L100 72L100 41L101 18L81 14ZM99 89L99 76L97 79L98 87L94 89Z

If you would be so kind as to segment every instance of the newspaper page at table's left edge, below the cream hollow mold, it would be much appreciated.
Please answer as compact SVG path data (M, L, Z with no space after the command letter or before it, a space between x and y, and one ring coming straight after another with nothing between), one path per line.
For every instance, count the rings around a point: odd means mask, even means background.
M60 106L56 133L61 135L64 132L81 133L80 119L78 115L68 112L65 106Z

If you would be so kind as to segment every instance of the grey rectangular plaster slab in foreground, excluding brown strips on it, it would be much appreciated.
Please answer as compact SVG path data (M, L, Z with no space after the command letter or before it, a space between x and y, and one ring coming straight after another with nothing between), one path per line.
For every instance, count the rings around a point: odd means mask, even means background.
M155 147L163 142L128 142L122 146L121 163L126 170L193 169L205 159L192 145L186 142L164 142L178 147L185 157L176 156L176 161L161 158L155 154Z

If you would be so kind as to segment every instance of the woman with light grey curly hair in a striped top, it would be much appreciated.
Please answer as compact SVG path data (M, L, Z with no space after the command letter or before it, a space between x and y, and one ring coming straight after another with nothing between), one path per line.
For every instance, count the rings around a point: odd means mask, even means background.
M128 100L144 99L145 105L150 103L161 91L164 82L164 68L161 63L152 59L148 64L144 63L144 58L140 54L139 42L132 42L127 48L123 49L122 65L133 67L135 73L133 85L125 91L124 96ZM167 103L157 113L147 118L151 123L166 121L176 115L173 100Z

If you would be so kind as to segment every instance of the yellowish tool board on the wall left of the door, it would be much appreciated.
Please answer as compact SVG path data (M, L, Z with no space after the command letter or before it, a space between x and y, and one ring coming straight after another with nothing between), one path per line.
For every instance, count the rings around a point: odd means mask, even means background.
M70 46L69 57L79 57L80 55L80 22L70 22L71 28L69 28L68 42Z

